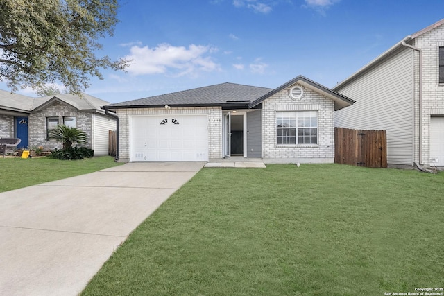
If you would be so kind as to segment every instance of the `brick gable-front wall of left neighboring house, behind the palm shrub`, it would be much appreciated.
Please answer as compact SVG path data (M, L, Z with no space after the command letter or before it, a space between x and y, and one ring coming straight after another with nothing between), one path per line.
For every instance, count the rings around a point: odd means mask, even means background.
M28 117L29 146L43 146L45 150L62 148L62 143L46 141L46 118L58 117L59 124L63 123L63 117L76 116L76 128L86 132L88 143L85 145L92 148L92 113L79 111L74 107L62 103L54 103L46 109L32 112Z

